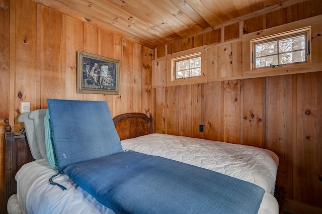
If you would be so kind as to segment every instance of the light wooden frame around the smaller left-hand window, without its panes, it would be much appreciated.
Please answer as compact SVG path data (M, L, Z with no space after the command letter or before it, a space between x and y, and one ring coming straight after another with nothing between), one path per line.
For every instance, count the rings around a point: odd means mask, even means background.
M201 57L201 76L193 76L189 78L177 79L176 62L182 61L184 59L197 57L197 56ZM168 55L167 56L167 85L173 86L173 85L184 85L184 84L207 82L206 64L207 64L207 46L206 45Z

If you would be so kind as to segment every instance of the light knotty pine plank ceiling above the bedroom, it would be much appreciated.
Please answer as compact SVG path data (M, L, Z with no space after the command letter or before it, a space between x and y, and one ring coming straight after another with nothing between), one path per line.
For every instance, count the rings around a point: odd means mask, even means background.
M155 47L278 10L299 0L32 0Z

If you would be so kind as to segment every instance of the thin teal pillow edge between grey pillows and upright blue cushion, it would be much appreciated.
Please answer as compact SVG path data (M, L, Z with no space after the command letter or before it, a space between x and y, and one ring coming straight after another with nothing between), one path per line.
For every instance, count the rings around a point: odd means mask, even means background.
M52 139L51 123L50 123L50 116L49 116L48 109L46 112L46 116L44 117L44 124L45 124L45 144L46 144L47 160L50 166L52 166L54 169L58 169L55 146L54 146L54 141Z

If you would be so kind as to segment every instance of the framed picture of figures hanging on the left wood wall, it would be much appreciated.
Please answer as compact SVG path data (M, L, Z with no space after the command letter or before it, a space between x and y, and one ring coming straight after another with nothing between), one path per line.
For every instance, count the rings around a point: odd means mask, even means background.
M77 52L77 93L119 94L120 61Z

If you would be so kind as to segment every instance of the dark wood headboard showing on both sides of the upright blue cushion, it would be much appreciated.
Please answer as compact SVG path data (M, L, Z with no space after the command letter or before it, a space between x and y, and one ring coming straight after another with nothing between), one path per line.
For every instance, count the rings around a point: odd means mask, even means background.
M135 138L152 133L152 115L143 113L127 113L113 118L114 126L120 139ZM11 132L11 126L6 126L6 201L17 193L15 175L25 163L35 160L30 152L25 129Z

